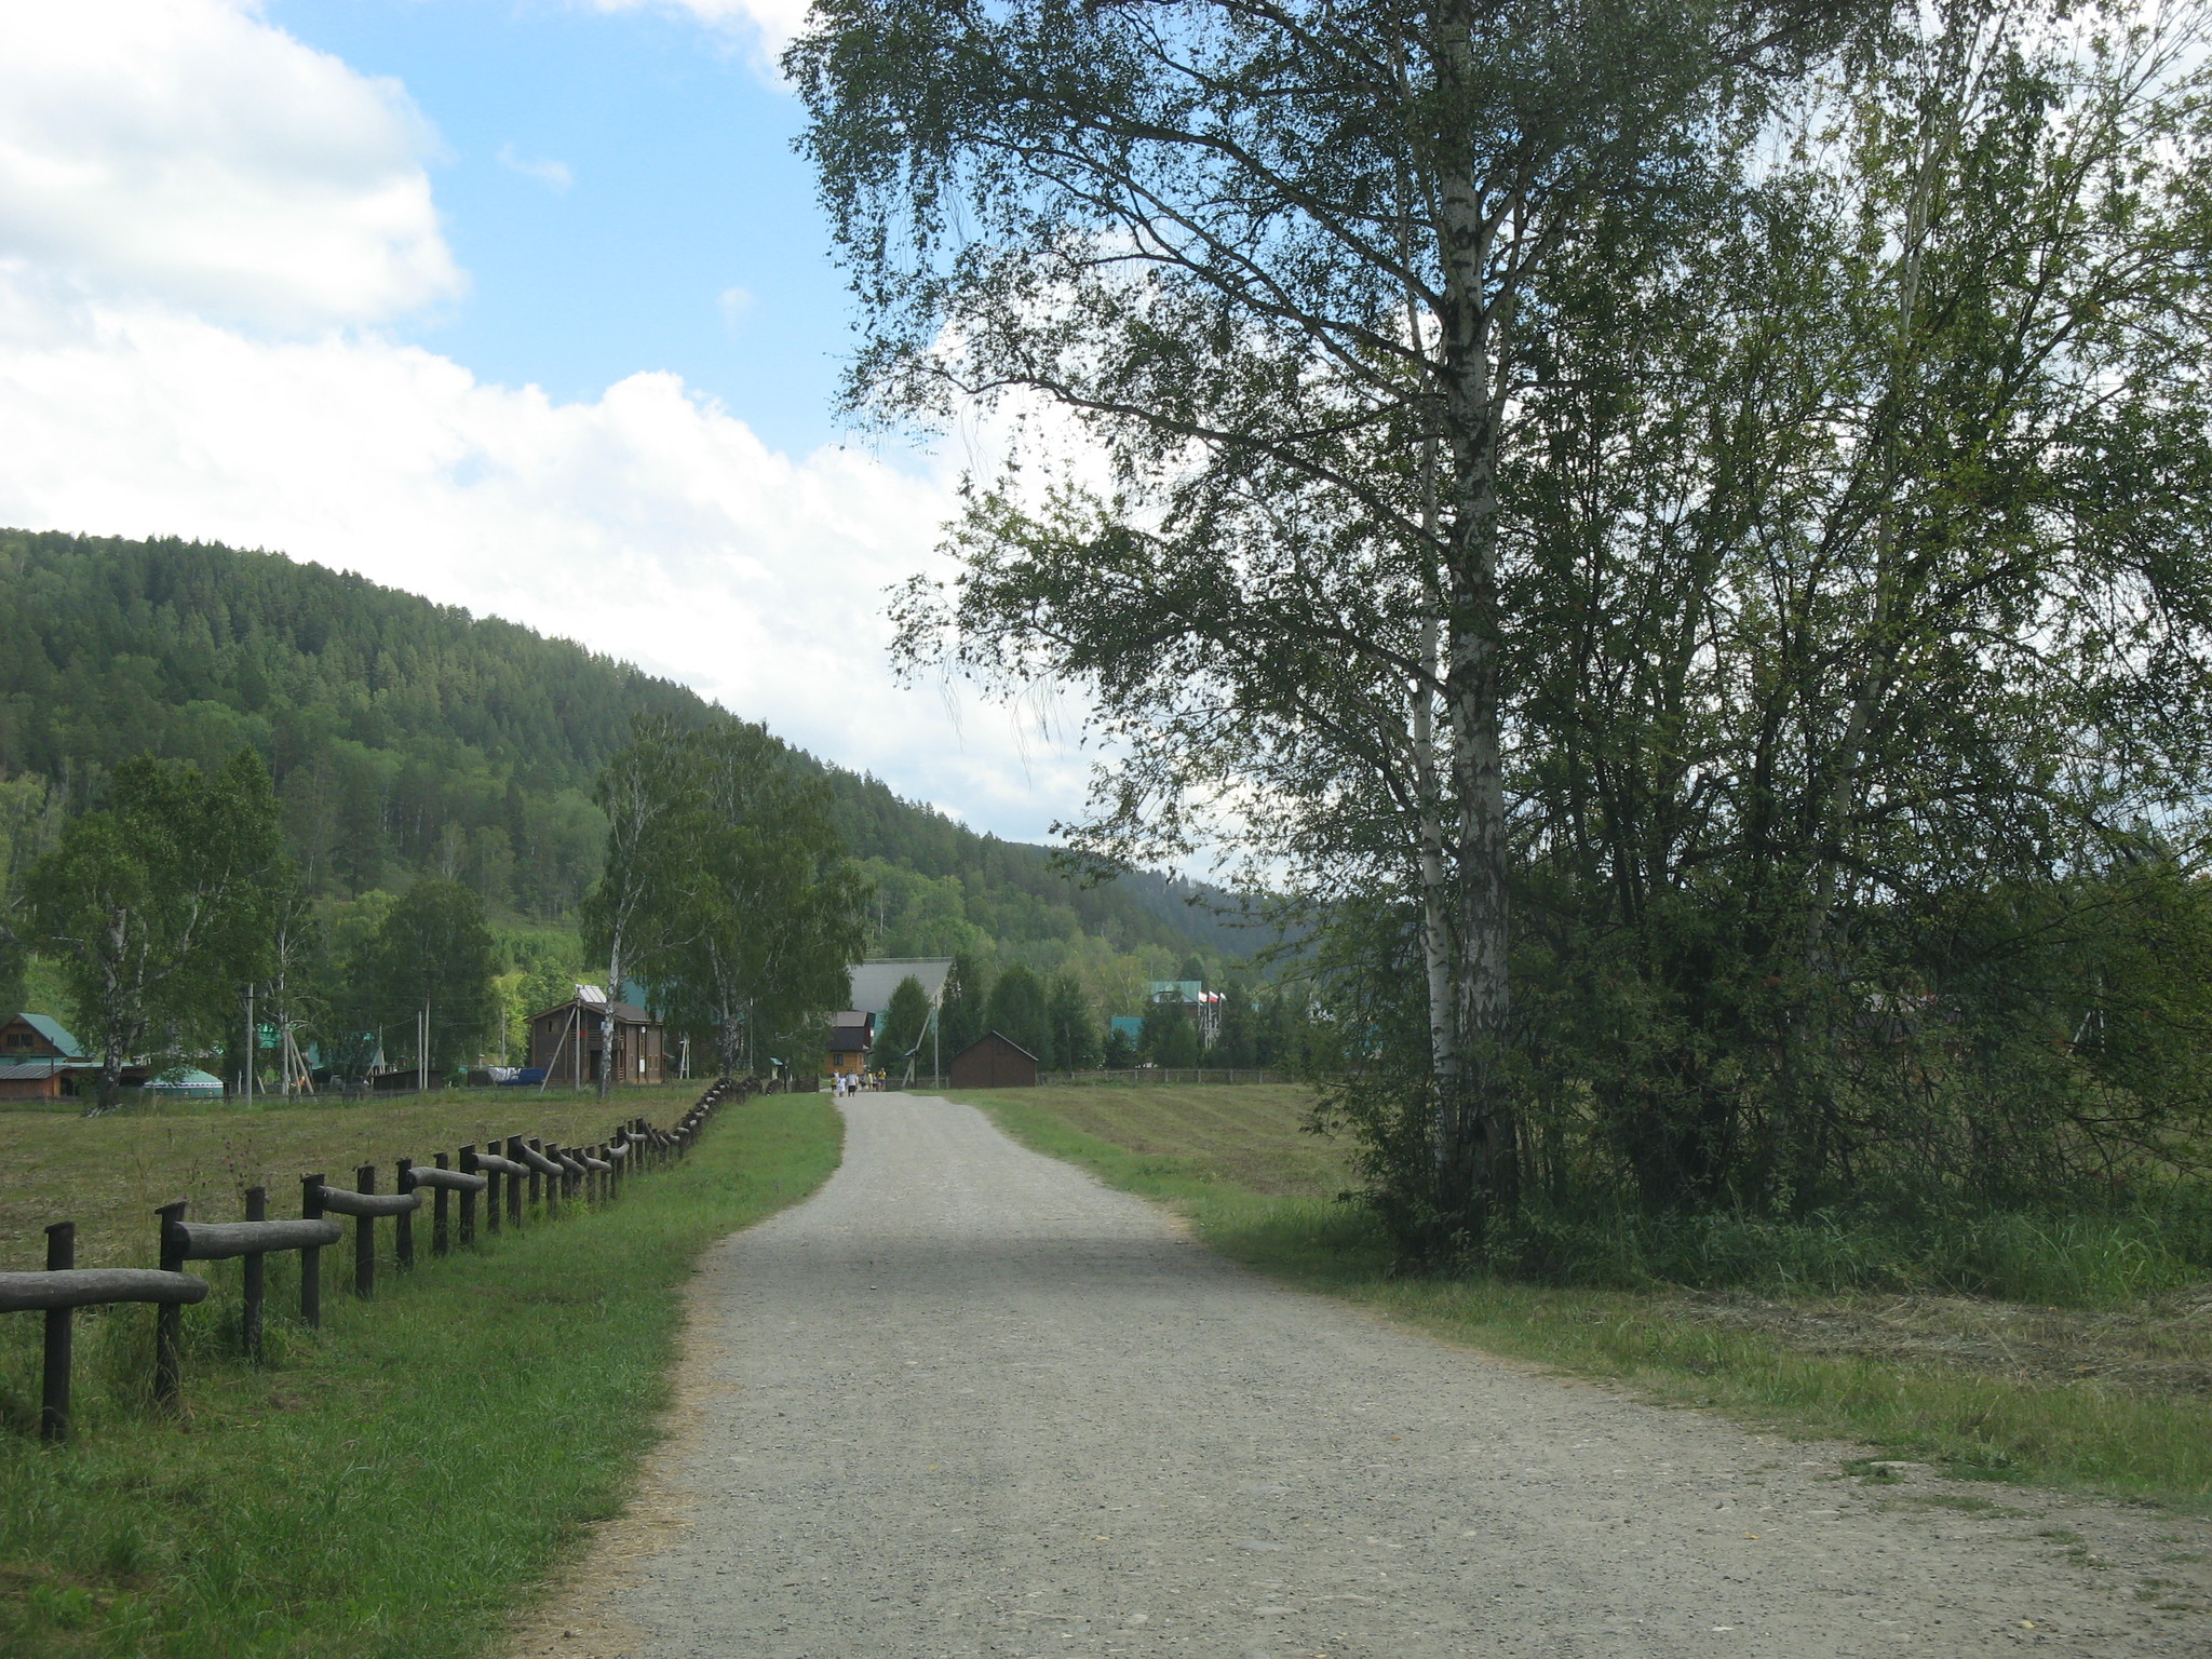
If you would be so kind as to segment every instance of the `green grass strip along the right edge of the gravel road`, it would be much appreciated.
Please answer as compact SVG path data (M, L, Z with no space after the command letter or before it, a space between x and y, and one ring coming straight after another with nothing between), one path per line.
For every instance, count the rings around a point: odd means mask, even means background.
M1652 1400L1725 1411L1803 1438L1858 1440L1893 1458L1978 1480L2068 1486L2212 1513L2212 1398L2143 1391L2108 1378L2024 1378L1995 1365L1818 1352L1787 1329L1743 1325L1679 1290L1584 1290L1493 1276L1407 1279L1376 1225L1329 1199L1340 1152L1303 1135L1301 1091L1272 1091L1237 1115L1232 1144L1212 1104L1146 1091L1126 1121L1106 1091L956 1093L1037 1152L1088 1168L1126 1192L1170 1206L1199 1237L1250 1267L1340 1296L1398 1325L1520 1360L1632 1387ZM1199 1091L1190 1091L1199 1093ZM1248 1093L1248 1091L1206 1091ZM1259 1091L1250 1091L1259 1095ZM1084 1099L1073 1099L1082 1095ZM1321 1150L1310 1150L1318 1146ZM1301 1164L1303 1159L1303 1164ZM1334 1164L1332 1164L1334 1159ZM1303 1168L1267 1192L1239 1170ZM1336 1181L1343 1186L1343 1179ZM1303 1190L1301 1190L1303 1188ZM1325 1190L1327 1188L1327 1190ZM1818 1298L1849 1316L1858 1298ZM1801 1298L1796 1312L1805 1312ZM1820 1323L1820 1321L1809 1321ZM2205 1343L2203 1318L2194 1343Z

